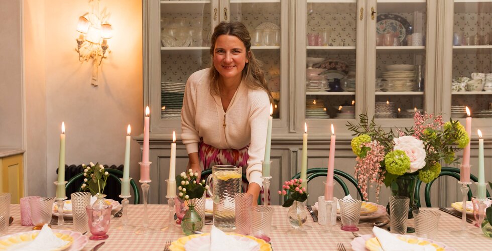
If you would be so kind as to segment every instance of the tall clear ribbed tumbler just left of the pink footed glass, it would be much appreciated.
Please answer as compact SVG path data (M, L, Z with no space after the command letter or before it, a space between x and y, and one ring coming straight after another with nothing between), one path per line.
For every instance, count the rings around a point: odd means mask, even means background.
M72 200L73 230L85 232L89 230L87 224L87 210L85 208L90 204L89 192L76 192L70 195Z

